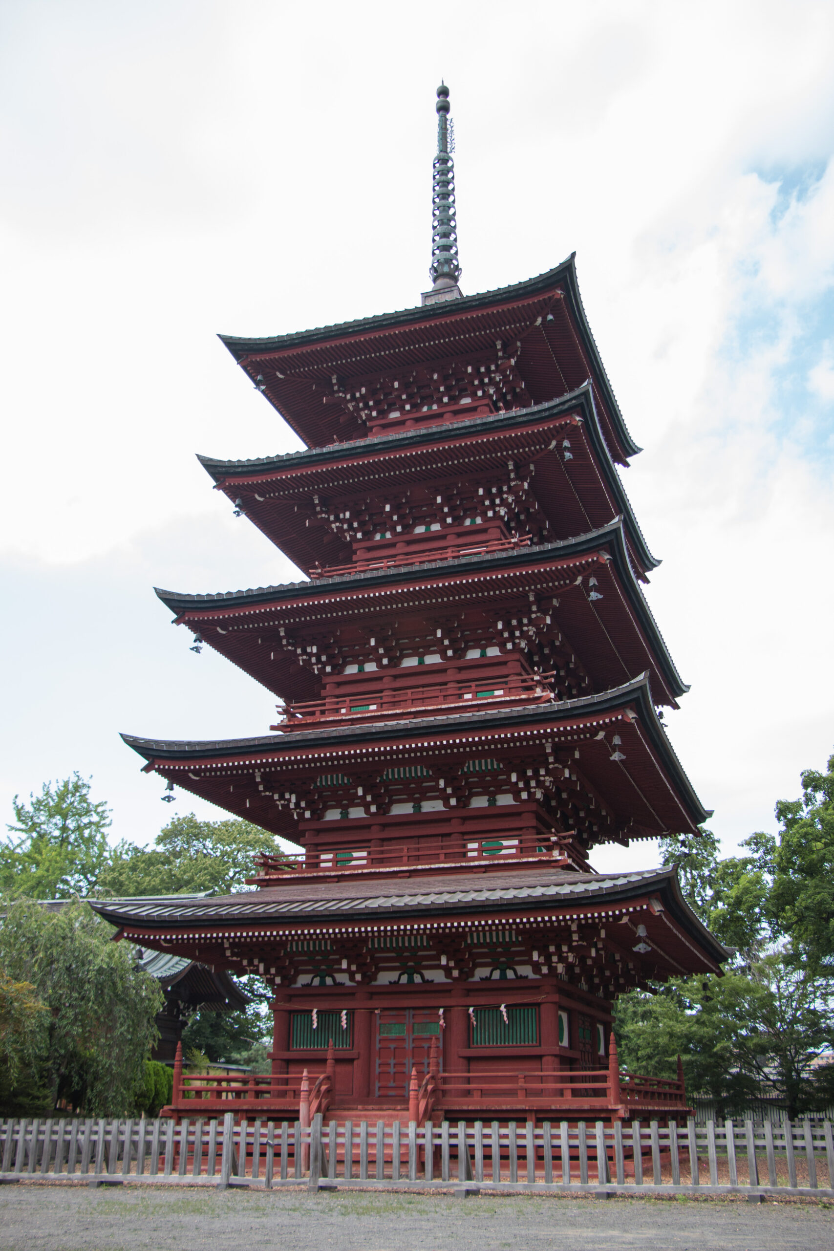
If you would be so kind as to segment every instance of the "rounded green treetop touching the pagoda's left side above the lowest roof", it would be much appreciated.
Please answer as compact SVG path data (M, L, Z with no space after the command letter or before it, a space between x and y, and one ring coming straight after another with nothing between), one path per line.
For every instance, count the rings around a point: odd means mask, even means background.
M255 857L280 856L274 834L248 821L198 821L194 813L175 817L153 848L116 848L100 886L109 894L179 894L210 891L229 894L246 889Z

